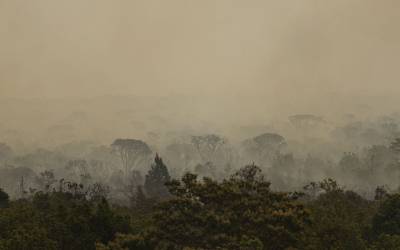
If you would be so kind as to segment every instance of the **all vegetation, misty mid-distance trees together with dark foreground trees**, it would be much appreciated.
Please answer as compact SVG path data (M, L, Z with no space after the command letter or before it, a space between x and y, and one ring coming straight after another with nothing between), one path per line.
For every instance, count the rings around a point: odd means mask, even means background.
M400 249L400 139L333 160L293 144L0 143L0 250Z

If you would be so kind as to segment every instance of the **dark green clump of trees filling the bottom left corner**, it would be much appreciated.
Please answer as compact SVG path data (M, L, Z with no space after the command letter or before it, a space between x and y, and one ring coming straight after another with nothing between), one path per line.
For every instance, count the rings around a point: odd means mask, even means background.
M117 232L130 232L129 219L115 214L105 199L68 191L38 192L0 209L0 249L95 249Z

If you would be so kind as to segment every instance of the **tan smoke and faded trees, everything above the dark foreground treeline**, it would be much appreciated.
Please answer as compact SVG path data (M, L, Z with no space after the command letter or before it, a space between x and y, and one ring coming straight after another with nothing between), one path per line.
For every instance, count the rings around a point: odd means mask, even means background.
M158 153L174 178L396 189L398 5L0 0L0 185L118 197Z

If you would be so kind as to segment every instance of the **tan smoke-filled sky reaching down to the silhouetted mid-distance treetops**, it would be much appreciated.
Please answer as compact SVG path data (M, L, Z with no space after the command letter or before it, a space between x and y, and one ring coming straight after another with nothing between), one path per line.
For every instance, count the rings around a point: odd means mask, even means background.
M280 131L299 113L396 112L399 5L0 0L3 140L68 126L79 132L64 137L106 142L238 135Z

